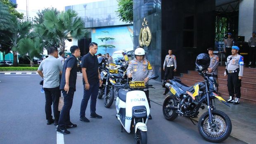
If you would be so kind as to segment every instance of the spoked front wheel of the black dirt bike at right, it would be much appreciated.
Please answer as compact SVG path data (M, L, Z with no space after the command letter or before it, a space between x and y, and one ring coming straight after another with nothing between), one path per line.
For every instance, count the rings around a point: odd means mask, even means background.
M198 130L200 135L209 142L222 142L227 139L232 130L232 123L228 115L222 111L213 110L213 123L210 125L209 113L205 112L199 119Z

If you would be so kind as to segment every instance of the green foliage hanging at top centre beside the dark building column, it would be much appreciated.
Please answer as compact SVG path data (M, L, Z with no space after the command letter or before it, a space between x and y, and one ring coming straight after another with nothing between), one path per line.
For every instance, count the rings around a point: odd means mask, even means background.
M131 24L133 22L133 0L117 0L117 2L116 14L121 21Z

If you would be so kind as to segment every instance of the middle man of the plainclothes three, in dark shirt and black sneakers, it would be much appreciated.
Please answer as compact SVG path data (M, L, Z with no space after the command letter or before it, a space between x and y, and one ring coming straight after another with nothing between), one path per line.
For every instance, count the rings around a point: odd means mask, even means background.
M72 55L66 59L62 78L60 81L59 89L62 90L64 97L64 106L59 116L59 123L57 126L57 131L65 134L70 134L67 128L77 127L76 124L70 121L70 109L73 104L73 96L76 91L76 77L77 77L77 57L80 57L80 50L78 46L73 45L70 47L70 52Z

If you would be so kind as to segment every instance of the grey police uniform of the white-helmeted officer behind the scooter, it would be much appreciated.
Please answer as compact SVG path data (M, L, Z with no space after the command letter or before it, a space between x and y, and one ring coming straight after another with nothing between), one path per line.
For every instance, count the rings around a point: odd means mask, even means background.
M149 61L147 59L142 59L142 61L137 61L137 59L133 59L130 61L128 68L127 68L127 75L129 73L133 74L133 80L132 81L144 81L145 78L151 78L153 75L153 69L150 65ZM147 96L147 102L150 106L150 100L149 100L149 90L144 91Z

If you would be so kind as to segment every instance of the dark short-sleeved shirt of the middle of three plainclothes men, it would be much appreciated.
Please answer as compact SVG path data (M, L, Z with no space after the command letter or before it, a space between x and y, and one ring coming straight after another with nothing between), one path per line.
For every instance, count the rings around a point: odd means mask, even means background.
M73 88L76 91L76 77L77 77L77 59L72 54L68 59L66 59L63 70L62 70L62 78L60 81L60 90L64 90L66 84L66 68L72 68L69 76L69 88Z

